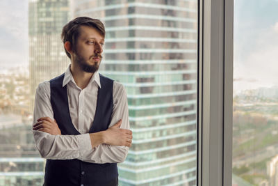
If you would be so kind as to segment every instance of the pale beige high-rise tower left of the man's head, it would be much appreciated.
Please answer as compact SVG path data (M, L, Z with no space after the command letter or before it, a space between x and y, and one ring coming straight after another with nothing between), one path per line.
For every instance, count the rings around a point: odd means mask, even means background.
M70 0L29 0L28 36L30 70L30 111L33 113L35 89L65 72L70 61L60 38L70 20Z

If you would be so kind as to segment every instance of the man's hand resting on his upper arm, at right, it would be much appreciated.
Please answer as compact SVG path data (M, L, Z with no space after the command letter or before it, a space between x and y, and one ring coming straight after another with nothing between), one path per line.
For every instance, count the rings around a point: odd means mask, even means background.
M122 120L104 131L104 144L111 146L129 146L132 142L132 131L121 129Z

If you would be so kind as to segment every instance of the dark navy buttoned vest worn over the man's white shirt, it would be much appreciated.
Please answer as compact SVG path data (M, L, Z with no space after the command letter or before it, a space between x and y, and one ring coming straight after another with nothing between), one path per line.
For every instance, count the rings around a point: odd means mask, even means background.
M65 74L50 80L51 106L54 118L63 135L78 135L72 124L67 99L67 86L63 87ZM113 80L99 74L101 88L97 94L95 118L89 133L108 129L113 110ZM117 164L93 164L81 160L47 160L45 185L109 185L118 176Z

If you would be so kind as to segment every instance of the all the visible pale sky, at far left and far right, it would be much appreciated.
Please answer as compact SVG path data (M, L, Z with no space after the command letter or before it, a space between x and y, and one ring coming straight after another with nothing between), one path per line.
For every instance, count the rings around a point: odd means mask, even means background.
M278 85L278 0L234 0L234 92ZM0 68L28 65L28 0L0 1Z

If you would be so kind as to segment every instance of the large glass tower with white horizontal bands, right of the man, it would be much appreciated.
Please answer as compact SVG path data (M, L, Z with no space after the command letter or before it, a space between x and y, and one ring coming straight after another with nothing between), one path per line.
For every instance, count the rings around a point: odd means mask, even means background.
M120 185L197 184L197 1L74 1L106 26L100 72L124 84L133 146Z

